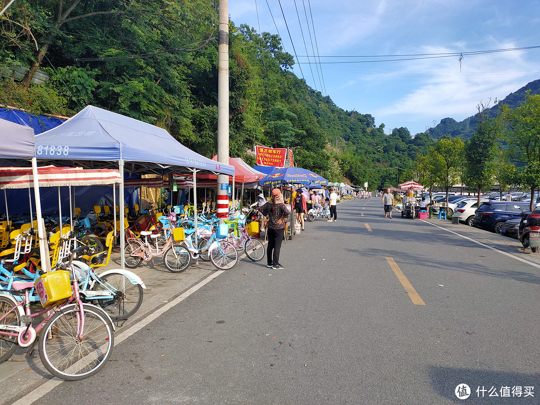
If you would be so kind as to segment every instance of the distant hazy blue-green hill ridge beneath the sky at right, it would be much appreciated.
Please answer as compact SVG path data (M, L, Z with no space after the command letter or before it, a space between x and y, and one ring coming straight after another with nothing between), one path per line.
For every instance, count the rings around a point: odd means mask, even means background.
M525 92L527 90L530 90L531 94L540 94L540 79L526 84L514 93L510 93L503 100L499 100L498 104L507 104L512 109L519 107L519 105L525 101ZM499 111L498 104L485 110L487 117L493 118L497 116ZM429 134L435 139L441 139L445 134L450 134L452 137L470 139L471 135L475 132L477 125L478 114L465 118L462 122L457 122L454 118L443 118L437 126L429 129Z

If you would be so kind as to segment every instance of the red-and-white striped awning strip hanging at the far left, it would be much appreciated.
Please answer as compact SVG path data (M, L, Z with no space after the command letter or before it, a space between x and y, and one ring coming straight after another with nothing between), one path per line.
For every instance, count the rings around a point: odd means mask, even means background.
M83 170L81 167L38 167L39 187L119 184L118 170ZM33 187L32 168L0 167L0 189Z

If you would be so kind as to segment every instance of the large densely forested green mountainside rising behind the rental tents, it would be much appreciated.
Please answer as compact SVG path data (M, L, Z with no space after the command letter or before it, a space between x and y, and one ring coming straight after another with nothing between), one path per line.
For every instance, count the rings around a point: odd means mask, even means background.
M0 18L0 104L71 116L87 104L217 151L218 14L185 0L14 2ZM59 8L60 11L59 12ZM291 71L277 35L230 24L230 154L254 164L254 144L290 147L295 163L331 181L370 188L412 178L433 140L384 134L368 113L345 111ZM14 66L29 69L14 80ZM36 69L50 75L31 84Z

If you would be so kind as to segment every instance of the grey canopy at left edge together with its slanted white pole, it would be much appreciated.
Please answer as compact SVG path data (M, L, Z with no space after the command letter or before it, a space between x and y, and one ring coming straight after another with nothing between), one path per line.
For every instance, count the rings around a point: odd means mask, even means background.
M31 127L22 126L6 121L4 119L0 119L0 145L2 145L2 150L0 151L0 159L31 160L33 178L38 178L34 130ZM51 268L49 261L49 247L47 245L45 225L43 224L41 215L41 206L39 204L39 186L37 181L34 182L33 188L36 200L39 255L42 262L42 267L44 268L45 272L48 272ZM6 206L6 214L7 211L8 207Z

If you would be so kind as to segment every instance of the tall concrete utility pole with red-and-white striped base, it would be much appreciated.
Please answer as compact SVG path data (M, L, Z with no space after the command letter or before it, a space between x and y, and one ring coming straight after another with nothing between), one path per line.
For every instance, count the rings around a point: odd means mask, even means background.
M219 0L218 161L229 164L229 3ZM229 213L229 177L218 174L218 218ZM205 196L206 197L206 196ZM240 197L242 198L242 197Z

